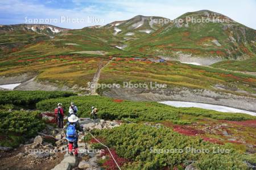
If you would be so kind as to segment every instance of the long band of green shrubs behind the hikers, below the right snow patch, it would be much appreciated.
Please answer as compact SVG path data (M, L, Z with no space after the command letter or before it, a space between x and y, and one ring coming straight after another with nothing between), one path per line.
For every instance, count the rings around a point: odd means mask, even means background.
M130 121L162 121L171 120L177 124L189 124L180 121L180 114L211 117L220 120L252 120L255 116L242 113L223 113L200 108L175 108L168 105L150 101L115 101L102 96L71 96L60 99L43 100L36 104L41 111L53 111L57 103L63 103L64 111L68 110L69 103L73 101L79 108L80 117L89 117L92 106L98 108L98 116L107 120ZM66 113L67 114L67 113Z

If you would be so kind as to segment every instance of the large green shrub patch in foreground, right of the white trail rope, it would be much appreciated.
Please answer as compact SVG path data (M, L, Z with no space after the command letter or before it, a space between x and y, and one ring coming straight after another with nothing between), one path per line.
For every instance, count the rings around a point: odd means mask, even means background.
M199 137L181 135L168 128L126 124L92 133L104 139L104 144L114 148L119 156L130 160L123 169L173 169L188 162L193 162L199 169L247 169L243 163L244 155L231 146L205 142ZM187 147L201 152L189 151ZM229 153L217 152L217 148Z

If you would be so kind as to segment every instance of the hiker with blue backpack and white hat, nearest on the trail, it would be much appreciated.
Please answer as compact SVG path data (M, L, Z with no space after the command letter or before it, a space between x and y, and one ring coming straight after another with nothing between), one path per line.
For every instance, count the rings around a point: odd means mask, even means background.
M78 155L78 137L79 131L83 131L82 125L79 124L79 118L72 114L68 117L68 123L65 125L65 135L68 141L68 152L70 155ZM74 153L73 153L74 152Z

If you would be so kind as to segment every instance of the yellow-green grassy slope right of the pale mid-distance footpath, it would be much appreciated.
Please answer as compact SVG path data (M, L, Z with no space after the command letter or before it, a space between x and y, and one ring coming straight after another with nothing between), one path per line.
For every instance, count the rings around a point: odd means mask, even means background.
M209 67L185 65L179 62L152 63L115 59L104 67L100 83L158 82L168 86L203 88L214 90L216 84L238 87L253 92L256 78L239 73L230 73Z

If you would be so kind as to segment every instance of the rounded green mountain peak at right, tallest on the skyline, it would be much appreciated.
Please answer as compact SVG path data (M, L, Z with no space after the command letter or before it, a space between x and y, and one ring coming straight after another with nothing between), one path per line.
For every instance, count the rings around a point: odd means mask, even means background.
M208 18L210 22L203 22L202 18ZM229 22L214 22L217 18ZM201 19L201 22L187 22L189 19ZM216 12L188 12L151 36L131 42L127 50L181 60L190 57L213 59L212 62L224 58L247 59L255 56L255 30Z

